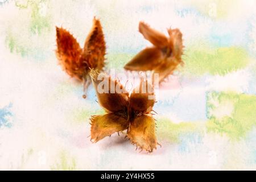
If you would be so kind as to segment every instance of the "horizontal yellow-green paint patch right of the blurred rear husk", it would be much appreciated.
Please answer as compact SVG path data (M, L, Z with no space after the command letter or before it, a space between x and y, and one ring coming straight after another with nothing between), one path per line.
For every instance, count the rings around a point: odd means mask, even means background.
M208 46L189 46L185 48L184 72L195 75L225 75L245 68L250 57L241 47L210 48Z

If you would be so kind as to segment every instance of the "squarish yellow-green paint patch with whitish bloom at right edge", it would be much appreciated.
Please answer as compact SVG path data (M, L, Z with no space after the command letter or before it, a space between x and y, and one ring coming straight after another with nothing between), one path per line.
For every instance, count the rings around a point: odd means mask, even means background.
M256 126L256 96L254 95L210 92L207 95L207 110L208 132L241 139Z

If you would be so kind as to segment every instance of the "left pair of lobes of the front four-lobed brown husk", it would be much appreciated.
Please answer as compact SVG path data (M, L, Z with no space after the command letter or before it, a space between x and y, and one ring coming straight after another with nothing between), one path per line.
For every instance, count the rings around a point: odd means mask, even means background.
M99 104L108 114L91 117L91 136L94 142L98 142L115 132L126 130L129 127L127 121L127 107L129 101L128 93L117 93L117 88L122 85L112 80L105 73L98 73L93 69L90 71L93 86ZM113 86L114 90L111 90ZM124 89L124 88L122 88Z

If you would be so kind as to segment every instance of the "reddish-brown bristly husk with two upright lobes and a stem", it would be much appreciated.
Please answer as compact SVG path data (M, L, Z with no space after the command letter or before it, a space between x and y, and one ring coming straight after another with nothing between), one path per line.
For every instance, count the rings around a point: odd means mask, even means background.
M100 20L94 18L82 49L77 40L64 28L56 27L56 56L60 65L71 77L84 83L84 92L90 84L90 69L104 68L106 45Z

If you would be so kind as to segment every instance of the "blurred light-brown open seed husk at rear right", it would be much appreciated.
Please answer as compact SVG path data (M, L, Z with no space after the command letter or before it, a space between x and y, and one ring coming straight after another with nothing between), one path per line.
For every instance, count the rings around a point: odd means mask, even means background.
M183 63L183 43L179 29L169 28L167 31L168 37L140 22L139 32L154 46L143 49L124 68L130 71L153 71L159 74L159 82L171 75Z

